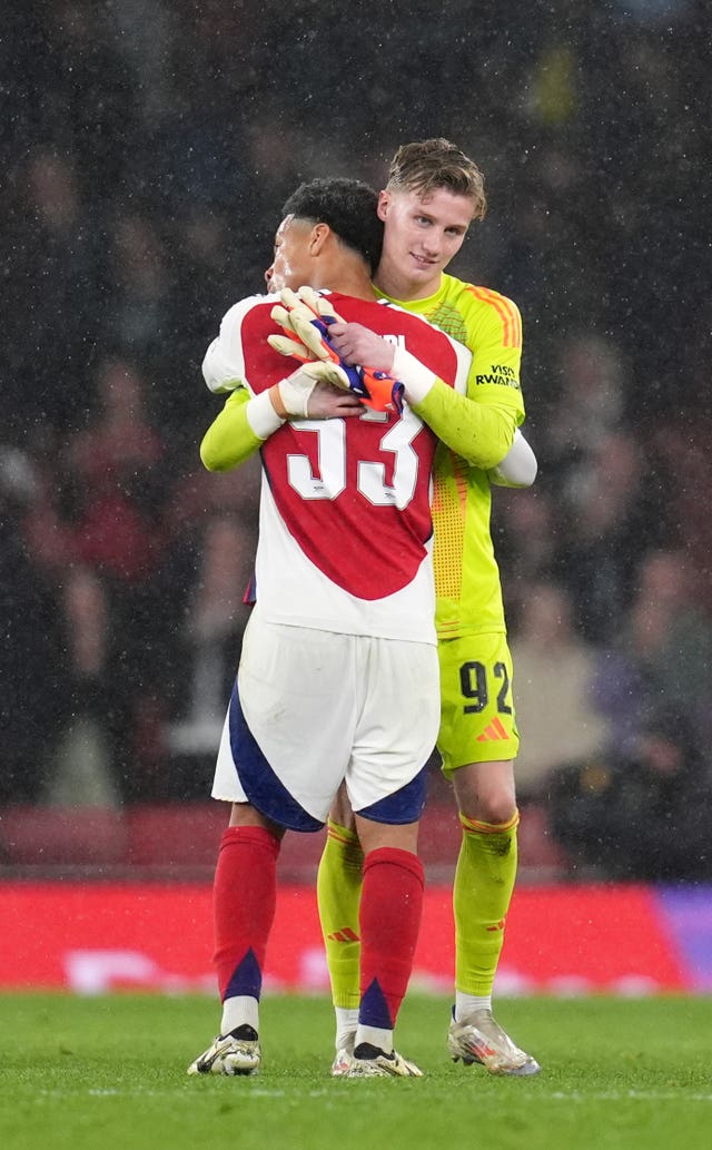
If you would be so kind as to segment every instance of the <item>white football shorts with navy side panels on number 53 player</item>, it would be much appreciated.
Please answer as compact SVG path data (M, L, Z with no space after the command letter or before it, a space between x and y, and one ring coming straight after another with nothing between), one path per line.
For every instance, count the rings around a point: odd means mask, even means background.
M249 619L212 797L317 830L346 780L354 811L420 816L440 723L436 647Z

